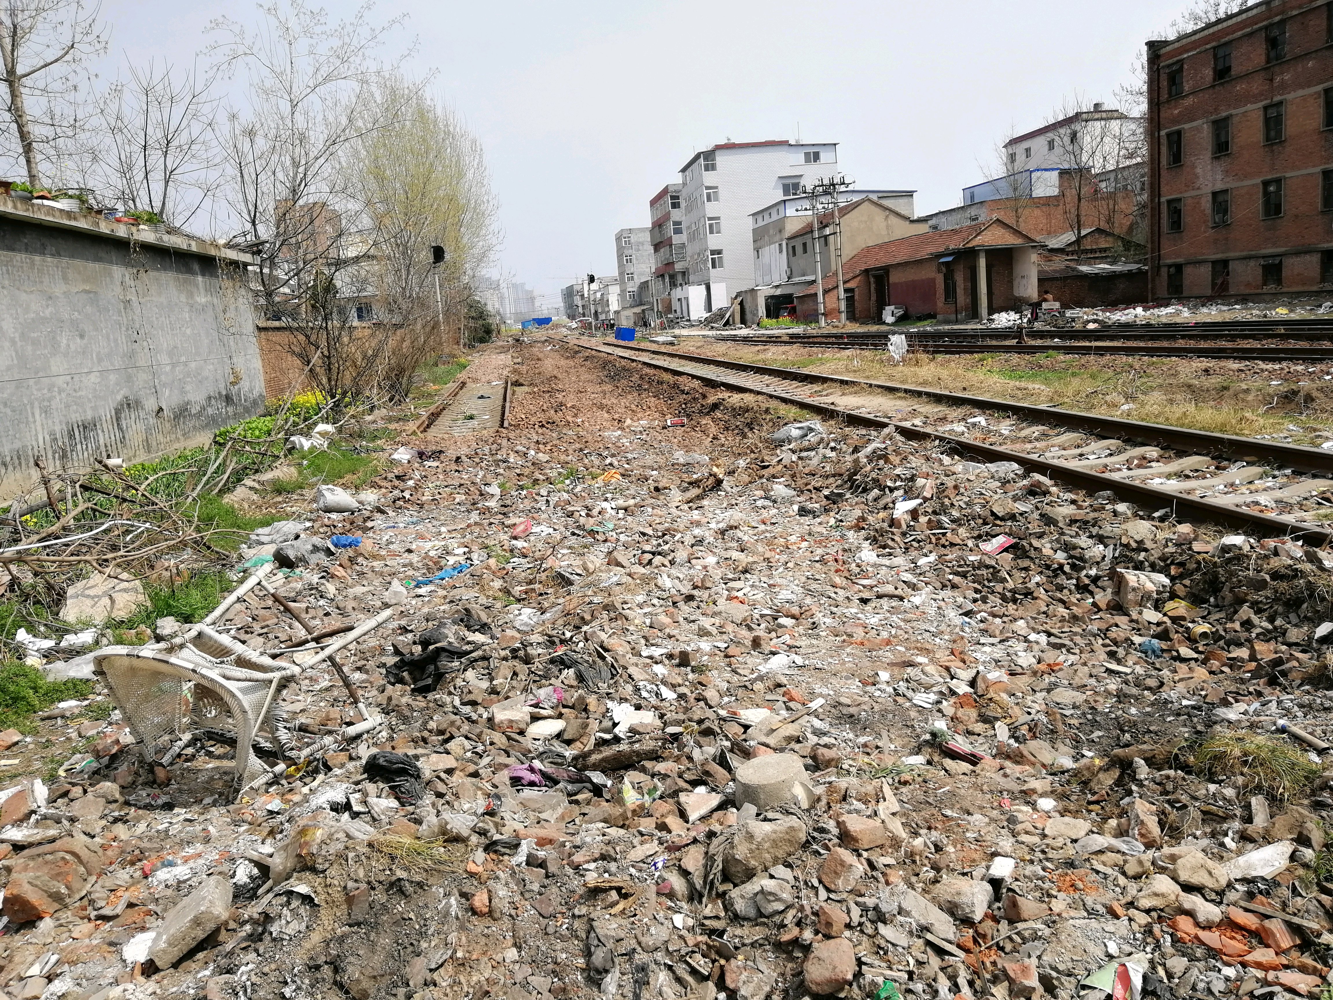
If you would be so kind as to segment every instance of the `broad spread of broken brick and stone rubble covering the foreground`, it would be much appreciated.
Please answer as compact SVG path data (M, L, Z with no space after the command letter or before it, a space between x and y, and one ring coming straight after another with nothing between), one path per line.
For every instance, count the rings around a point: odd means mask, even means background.
M373 737L233 801L113 716L0 792L8 996L1322 988L1326 553L521 360L513 429L296 525L360 539L276 585L312 628L396 608L343 653ZM325 665L305 739L359 719Z

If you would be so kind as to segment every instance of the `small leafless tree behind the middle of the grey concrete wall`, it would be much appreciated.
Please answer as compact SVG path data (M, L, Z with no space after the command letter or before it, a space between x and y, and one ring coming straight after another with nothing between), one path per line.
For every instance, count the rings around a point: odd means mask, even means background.
M177 73L156 60L128 73L101 101L101 185L127 208L185 228L221 183L215 73L199 67Z

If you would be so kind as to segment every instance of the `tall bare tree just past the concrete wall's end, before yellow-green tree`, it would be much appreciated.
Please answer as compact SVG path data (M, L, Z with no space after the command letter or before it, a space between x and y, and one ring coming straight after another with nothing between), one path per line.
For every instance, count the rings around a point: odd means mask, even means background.
M283 327L284 349L335 399L365 391L389 327L356 325L373 299L367 264L379 251L343 165L349 151L388 125L396 109L373 101L385 72L373 59L401 19L372 23L364 4L329 24L304 0L260 8L255 31L229 19L209 31L215 65L244 76L247 105L220 127L233 244L255 252L264 316Z

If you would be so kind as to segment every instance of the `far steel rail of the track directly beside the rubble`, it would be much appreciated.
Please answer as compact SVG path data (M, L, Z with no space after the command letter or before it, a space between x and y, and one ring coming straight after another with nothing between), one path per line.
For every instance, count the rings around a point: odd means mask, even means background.
M756 375L785 379L788 381L866 385L886 392L900 392L938 400L950 405L1004 411L1042 424L1056 424L1073 431L1086 431L1088 433L1138 441L1140 444L1150 444L1173 451L1202 452L1233 461L1273 461L1284 468L1300 469L1302 472L1333 473L1333 452L1326 452L1322 448L1308 448L1302 444L1261 441L1254 437L1221 435L1210 431L1192 431L1188 427L1172 427L1169 424L1145 424L1141 420L1125 420L1124 417L1102 416L1100 413L1080 413L1076 409L1038 407L1032 403L1009 403L988 396L965 396L958 392L926 389L917 385L900 385L873 379L853 379L846 375L806 372L798 368L776 368L772 365L750 364L748 361L733 361L728 357L712 357L710 355L682 355L674 351L660 351L637 344L619 344L617 347L621 351L680 357L738 372L753 372Z

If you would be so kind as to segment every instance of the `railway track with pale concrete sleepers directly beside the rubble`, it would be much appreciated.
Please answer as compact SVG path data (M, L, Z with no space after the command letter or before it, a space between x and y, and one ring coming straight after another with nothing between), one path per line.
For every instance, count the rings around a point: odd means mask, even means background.
M1320 448L639 345L571 337L563 343L848 423L892 427L904 437L945 444L984 461L1014 461L1066 485L1110 491L1181 520L1262 537L1333 540L1330 527L1317 517L1333 512L1333 504L1320 499L1333 491L1333 452Z

